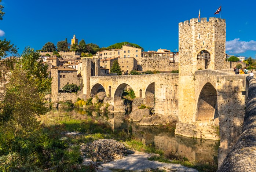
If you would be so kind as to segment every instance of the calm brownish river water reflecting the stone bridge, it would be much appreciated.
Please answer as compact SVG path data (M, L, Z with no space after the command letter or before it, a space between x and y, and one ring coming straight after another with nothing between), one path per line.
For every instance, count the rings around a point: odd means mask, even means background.
M174 130L162 129L155 126L140 126L129 122L128 114L111 113L101 115L95 111L82 111L81 109L62 109L60 111L70 111L71 113L80 113L88 115L98 121L109 125L113 130L132 134L135 139L141 140L145 144L152 144L166 149L175 148L180 154L186 155L189 159L198 160L200 158L213 158L218 155L219 141L192 139L174 134Z

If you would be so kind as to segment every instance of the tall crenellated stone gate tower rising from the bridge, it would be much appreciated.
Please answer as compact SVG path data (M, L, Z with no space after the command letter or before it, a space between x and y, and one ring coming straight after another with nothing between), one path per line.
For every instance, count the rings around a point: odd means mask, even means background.
M201 18L198 22L193 18L179 23L180 123L194 124L197 113L195 71L223 69L225 43L225 19L211 17L207 21L207 18Z

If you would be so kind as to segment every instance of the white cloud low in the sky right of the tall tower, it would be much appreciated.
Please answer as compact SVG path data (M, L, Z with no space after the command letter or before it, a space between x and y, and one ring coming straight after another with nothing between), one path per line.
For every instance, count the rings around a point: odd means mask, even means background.
M230 53L242 53L248 50L256 51L256 41L240 41L239 38L226 41L226 51Z

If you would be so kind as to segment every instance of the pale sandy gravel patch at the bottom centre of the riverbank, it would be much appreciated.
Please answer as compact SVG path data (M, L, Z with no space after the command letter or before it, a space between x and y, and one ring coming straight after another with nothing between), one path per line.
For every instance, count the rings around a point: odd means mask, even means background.
M99 172L111 172L109 168L141 171L144 169L164 169L168 172L198 172L196 169L188 168L180 164L167 164L158 161L149 161L148 157L153 154L136 151L127 157L102 164Z

